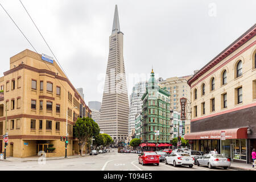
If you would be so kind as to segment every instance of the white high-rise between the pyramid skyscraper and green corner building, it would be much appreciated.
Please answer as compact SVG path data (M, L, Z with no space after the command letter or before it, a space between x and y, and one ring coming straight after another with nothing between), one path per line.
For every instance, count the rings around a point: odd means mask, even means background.
M142 111L142 96L146 93L147 82L142 81L134 85L133 91L130 95L130 109L129 109L129 122L128 122L128 134L135 129L135 115Z

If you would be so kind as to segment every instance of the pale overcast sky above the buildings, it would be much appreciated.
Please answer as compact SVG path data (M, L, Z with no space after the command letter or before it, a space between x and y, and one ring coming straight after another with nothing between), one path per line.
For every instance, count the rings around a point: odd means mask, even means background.
M118 5L126 77L192 75L248 30L256 1L22 0L85 102L102 100L109 36ZM36 51L52 56L19 0L0 0ZM11 56L34 49L0 7L0 77ZM103 77L102 77L103 76ZM129 81L128 81L129 82ZM102 86L101 86L102 85ZM133 85L128 84L131 93ZM102 88L103 89L103 88Z

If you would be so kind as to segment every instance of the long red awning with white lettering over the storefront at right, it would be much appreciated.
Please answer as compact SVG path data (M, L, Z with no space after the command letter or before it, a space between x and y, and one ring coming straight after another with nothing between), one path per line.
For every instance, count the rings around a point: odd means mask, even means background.
M238 129L226 129L226 130L212 130L195 132L184 135L184 139L196 140L196 139L220 139L221 131L225 131L226 139L245 139L247 138L247 127Z

